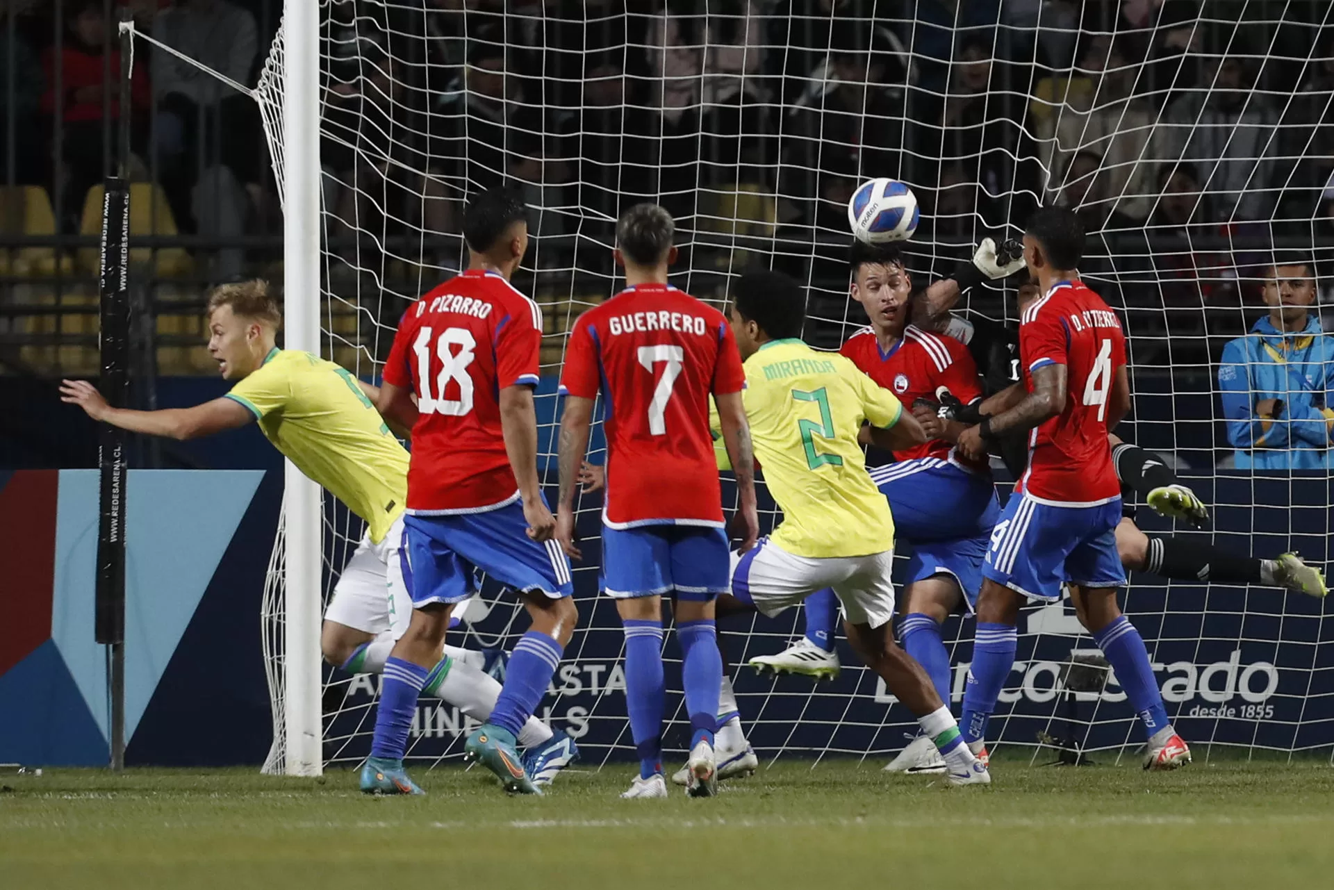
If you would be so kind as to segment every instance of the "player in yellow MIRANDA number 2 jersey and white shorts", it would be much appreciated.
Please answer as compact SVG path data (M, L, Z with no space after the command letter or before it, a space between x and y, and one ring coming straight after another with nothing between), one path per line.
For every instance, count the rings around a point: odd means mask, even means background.
M748 272L732 298L732 330L746 356L746 415L783 522L740 555L731 596L719 610L776 615L816 590L832 590L848 642L916 715L950 782L990 782L986 766L960 743L932 678L894 643L895 516L866 472L860 442L910 451L926 435L902 402L854 362L800 340L806 296L792 279Z

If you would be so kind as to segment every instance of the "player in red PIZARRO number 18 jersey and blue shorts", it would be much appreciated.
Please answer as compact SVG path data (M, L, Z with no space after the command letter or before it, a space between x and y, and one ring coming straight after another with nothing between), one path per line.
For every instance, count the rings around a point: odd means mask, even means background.
M540 794L515 737L546 694L578 614L570 563L538 478L542 311L510 284L528 244L527 208L510 189L463 211L468 267L403 315L384 364L380 412L412 426L407 570L412 619L384 666L362 790L420 794L403 769L418 694L456 603L484 571L518 591L532 626L515 643L490 719L464 743L510 791ZM432 652L436 654L432 659Z

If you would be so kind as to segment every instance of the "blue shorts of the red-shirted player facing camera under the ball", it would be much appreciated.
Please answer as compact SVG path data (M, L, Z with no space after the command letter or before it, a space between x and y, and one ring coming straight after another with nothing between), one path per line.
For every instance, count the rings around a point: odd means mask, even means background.
M990 476L939 458L915 458L871 470L890 502L894 536L912 547L903 586L954 575L968 611L982 587L982 560L1000 516Z

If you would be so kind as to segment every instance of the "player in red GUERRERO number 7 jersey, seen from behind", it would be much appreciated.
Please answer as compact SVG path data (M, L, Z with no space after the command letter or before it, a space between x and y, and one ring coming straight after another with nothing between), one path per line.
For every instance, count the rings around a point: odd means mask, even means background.
M754 459L742 407L740 355L727 319L667 283L676 260L671 215L631 207L616 223L626 290L575 322L566 352L556 539L574 543L575 486L588 448L594 399L606 400L604 587L626 630L626 699L639 775L622 797L667 797L662 771L666 687L662 598L676 599L676 636L690 714L691 797L716 790L714 731L723 663L714 598L728 588L728 546L708 426L718 403L736 474L742 547L759 535Z

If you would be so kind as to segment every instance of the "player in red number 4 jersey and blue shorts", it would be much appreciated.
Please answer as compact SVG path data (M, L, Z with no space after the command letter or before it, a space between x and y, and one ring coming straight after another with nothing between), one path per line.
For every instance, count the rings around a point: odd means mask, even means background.
M1075 271L1083 246L1083 224L1067 208L1043 208L1029 219L1023 259L1043 296L1019 323L1025 394L959 436L959 451L978 459L1000 435L1030 436L1029 468L996 523L982 570L963 733L974 751L983 750L1014 667L1025 599L1059 600L1069 584L1079 622L1145 725L1145 767L1171 770L1190 762L1190 749L1167 719L1139 631L1117 603L1125 583L1115 534L1121 484L1107 432L1130 410L1130 383L1121 322Z

